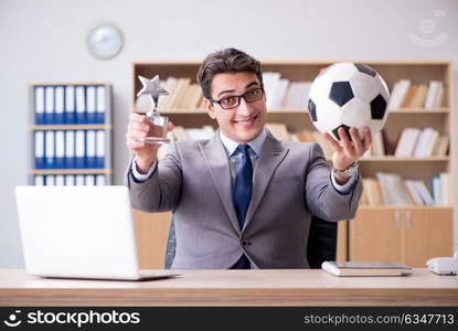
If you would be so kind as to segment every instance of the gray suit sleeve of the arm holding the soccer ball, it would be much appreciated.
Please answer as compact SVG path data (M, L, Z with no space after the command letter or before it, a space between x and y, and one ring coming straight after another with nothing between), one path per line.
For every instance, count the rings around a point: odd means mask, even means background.
M332 170L318 143L310 147L305 181L306 207L320 218L340 221L354 218L362 193L360 175L349 193L339 192L331 180Z

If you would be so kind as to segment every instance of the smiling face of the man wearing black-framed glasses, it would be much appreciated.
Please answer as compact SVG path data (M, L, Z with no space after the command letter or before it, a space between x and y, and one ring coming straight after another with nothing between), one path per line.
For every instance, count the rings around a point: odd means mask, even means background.
M254 94L259 88L259 81L254 73L217 74L212 81L212 98L231 102L232 96ZM223 109L217 103L205 99L205 109L211 118L216 119L222 132L238 143L246 143L259 136L266 122L264 94L259 100L252 103L242 98L241 104L231 109Z

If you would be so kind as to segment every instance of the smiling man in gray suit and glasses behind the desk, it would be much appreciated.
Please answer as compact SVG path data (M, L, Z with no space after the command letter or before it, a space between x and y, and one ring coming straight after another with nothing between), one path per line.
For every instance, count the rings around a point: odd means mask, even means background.
M172 211L177 253L172 268L308 268L310 216L354 216L362 193L358 159L371 143L355 128L341 129L329 166L318 143L278 141L265 128L260 63L225 49L199 73L205 110L220 129L210 140L158 146L136 141L155 135L145 116L130 117L127 146L135 158L126 174L135 209ZM172 125L169 126L169 130Z

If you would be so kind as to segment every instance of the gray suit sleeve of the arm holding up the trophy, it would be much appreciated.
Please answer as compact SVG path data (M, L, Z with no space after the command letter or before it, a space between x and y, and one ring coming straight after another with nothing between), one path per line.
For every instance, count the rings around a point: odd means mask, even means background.
M146 181L135 179L130 164L125 184L129 188L134 209L148 213L175 210L182 186L181 162L177 143L170 145L169 152L157 163L152 175Z

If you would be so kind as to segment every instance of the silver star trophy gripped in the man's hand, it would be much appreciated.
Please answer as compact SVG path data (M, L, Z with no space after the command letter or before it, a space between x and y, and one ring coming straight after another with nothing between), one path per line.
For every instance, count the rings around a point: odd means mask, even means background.
M157 145L168 143L170 142L170 140L167 138L169 118L159 115L158 100L161 94L168 95L169 93L164 88L159 86L158 75L156 75L152 79L148 79L142 76L138 76L138 78L140 79L141 84L143 84L143 87L137 94L137 97L142 94L146 94L149 95L149 97L151 98L152 106L151 109L147 113L147 117L149 121L155 127L157 127L155 128L155 134L157 132L158 135L153 137L136 138L136 141Z

